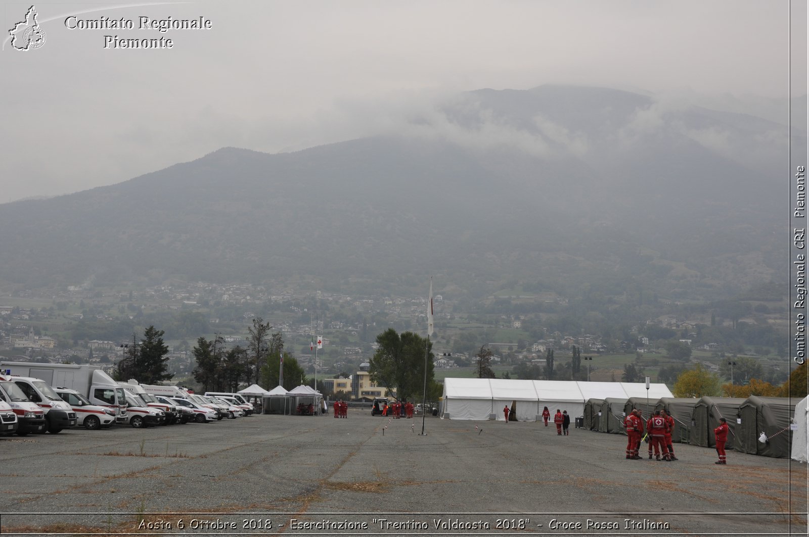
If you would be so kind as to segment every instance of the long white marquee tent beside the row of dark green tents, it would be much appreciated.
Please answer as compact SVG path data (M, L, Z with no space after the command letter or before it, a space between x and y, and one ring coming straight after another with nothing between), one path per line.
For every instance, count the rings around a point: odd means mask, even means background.
M663 383L650 384L648 393L650 400L672 396ZM558 408L566 410L572 419L583 415L588 399L633 396L646 396L646 383L445 378L442 412L451 420L489 420L493 416L502 421L502 409L508 406L518 421L536 421L547 406L552 415Z

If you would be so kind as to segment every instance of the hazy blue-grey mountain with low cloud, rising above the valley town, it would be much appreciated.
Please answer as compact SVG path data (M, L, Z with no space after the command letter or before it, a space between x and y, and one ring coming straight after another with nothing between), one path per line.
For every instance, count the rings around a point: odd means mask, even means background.
M0 205L0 281L252 281L395 293L627 286L716 298L786 278L802 133L599 87L481 89L375 137L286 154L222 148L121 184ZM370 282L370 283L369 283Z

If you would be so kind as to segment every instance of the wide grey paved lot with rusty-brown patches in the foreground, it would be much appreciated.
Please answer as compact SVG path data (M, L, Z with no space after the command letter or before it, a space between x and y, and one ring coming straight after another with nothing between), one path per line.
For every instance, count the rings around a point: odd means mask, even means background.
M425 427L349 411L0 438L0 534L807 535L805 464L730 451L722 467L680 445L676 462L626 460L623 435L539 423Z

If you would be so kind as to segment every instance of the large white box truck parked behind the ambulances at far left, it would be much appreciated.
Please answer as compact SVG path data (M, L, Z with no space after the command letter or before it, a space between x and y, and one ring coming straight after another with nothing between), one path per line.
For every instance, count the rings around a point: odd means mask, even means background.
M49 364L34 362L0 362L0 372L44 380L48 386L70 388L87 397L92 404L111 408L115 421L125 424L126 400L124 388L104 373L99 366L90 364Z

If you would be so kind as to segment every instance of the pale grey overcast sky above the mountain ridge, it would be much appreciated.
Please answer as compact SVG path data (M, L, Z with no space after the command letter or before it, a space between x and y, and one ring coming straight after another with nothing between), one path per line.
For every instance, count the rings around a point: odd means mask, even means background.
M29 6L3 2L0 13L2 203L118 183L223 146L273 153L396 129L408 109L482 87L790 91L787 0L49 2L36 4L44 45L21 52L8 29ZM805 2L792 9L806 27ZM71 30L70 15L135 29ZM213 27L141 31L140 16ZM174 46L104 49L105 35ZM802 95L806 37L793 40Z

